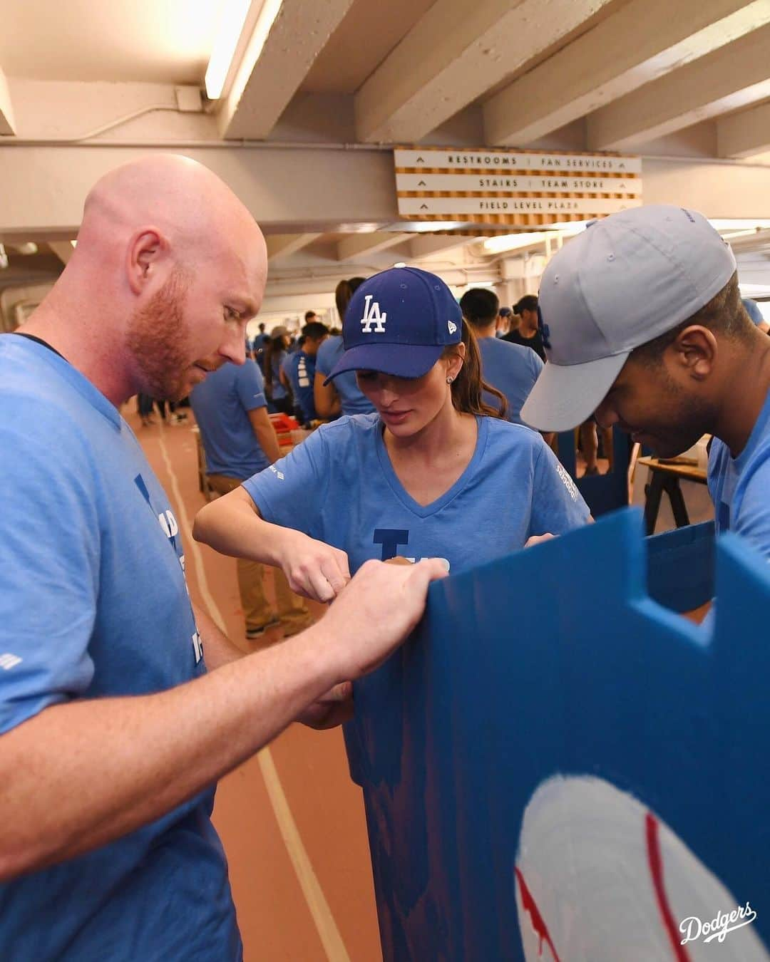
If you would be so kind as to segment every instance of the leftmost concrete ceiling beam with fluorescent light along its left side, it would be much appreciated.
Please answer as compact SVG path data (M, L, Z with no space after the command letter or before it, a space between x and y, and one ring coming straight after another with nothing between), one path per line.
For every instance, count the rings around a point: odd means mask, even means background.
M274 11L279 0L266 0ZM218 115L225 139L267 138L352 0L283 0L265 37L260 15L232 89Z

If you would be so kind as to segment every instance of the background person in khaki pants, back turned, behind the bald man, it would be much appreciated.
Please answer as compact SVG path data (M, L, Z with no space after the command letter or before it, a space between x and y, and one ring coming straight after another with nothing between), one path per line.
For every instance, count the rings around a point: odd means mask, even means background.
M208 482L218 494L234 491L245 478L278 460L262 372L252 361L219 367L196 385L190 400L206 453ZM312 619L307 606L290 589L282 570L272 569L277 613L265 594L265 566L239 558L237 570L246 639L256 641L278 624L285 638L308 626Z

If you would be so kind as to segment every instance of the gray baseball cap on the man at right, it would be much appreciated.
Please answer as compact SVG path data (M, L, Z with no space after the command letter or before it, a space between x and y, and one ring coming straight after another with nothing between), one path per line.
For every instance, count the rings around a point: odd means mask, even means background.
M706 217L681 207L636 207L586 228L541 279L548 364L522 419L540 431L581 424L633 348L694 315L735 269L732 250Z

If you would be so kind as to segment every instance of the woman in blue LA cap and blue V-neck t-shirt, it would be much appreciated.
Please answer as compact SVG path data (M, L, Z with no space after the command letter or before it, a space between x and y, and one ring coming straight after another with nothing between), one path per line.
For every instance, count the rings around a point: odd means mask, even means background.
M445 560L461 571L589 519L534 431L486 405L478 349L447 285L396 267L358 287L345 351L374 414L340 418L207 505L194 537L275 565L328 601L368 559Z

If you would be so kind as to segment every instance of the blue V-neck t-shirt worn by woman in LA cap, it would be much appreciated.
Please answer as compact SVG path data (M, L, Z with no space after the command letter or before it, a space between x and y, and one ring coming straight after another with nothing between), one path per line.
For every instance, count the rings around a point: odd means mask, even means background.
M589 511L539 434L478 418L475 453L431 504L398 481L377 415L322 425L269 470L244 482L263 518L370 558L445 558L452 572L500 558L530 535L563 534Z

